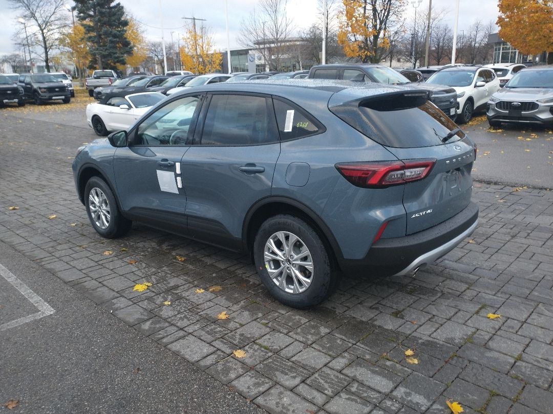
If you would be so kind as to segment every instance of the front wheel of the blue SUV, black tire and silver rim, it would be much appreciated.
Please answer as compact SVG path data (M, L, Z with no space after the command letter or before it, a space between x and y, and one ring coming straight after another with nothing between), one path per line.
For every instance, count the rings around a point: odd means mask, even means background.
M109 185L100 177L86 183L85 208L92 227L102 237L121 237L131 229L133 222L123 217Z

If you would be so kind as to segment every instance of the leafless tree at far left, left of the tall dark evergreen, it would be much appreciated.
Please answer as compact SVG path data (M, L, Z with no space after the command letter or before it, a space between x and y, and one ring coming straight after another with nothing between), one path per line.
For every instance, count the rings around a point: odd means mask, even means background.
M22 18L33 22L36 30L29 34L39 38L44 66L50 72L50 51L58 45L61 30L69 16L64 10L65 0L9 0L14 9L21 10Z

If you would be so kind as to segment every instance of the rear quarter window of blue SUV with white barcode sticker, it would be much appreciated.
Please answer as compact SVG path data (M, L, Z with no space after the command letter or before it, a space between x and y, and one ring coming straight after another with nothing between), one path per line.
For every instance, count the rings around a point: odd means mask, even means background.
M322 126L312 116L296 106L273 99L276 124L283 141L318 134Z

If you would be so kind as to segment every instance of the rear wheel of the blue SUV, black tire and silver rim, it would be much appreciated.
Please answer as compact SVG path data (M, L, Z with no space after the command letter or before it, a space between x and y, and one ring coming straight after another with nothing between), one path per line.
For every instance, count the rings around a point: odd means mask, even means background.
M267 243L273 237L278 239L274 242L274 245L277 245L278 241L281 240L277 236L279 232L296 236L298 240L293 243L293 247L295 247L289 250L291 253L287 261L281 262L280 259L269 259L267 263L265 262L265 246L267 246ZM287 242L289 240L290 238L287 239ZM283 251L286 251L283 245L279 244L276 247L283 247ZM299 247L302 248L301 251ZM296 254L296 256L294 257L292 253ZM305 259L309 262L309 258L307 258L309 256L302 257L302 254L309 254L312 272L299 264L296 267L293 264L294 261L290 260L290 258L294 259L297 263L298 259L299 262ZM276 254L273 256L276 256ZM332 271L331 259L324 243L309 224L296 216L277 215L263 222L257 231L257 235L255 235L253 257L263 284L269 290L269 293L284 305L295 307L296 309L314 307L328 298L337 285L338 276ZM285 254L284 257L286 257ZM281 276L280 278L277 276L273 279L269 274L269 270L274 270L277 266L283 269L283 271L275 272ZM295 270L291 267L294 267ZM294 285L293 275L297 273L300 273L304 277L304 280L308 280L309 284L304 284L300 280L297 285ZM296 289L298 286L300 289ZM301 288L304 290L301 290ZM298 291L294 292L290 290Z

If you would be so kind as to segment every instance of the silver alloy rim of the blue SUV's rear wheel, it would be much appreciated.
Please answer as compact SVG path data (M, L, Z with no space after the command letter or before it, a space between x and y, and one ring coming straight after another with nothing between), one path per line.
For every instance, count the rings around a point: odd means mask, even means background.
M294 233L279 231L270 236L263 258L270 278L285 292L302 293L311 285L314 277L311 252Z

